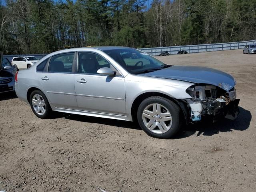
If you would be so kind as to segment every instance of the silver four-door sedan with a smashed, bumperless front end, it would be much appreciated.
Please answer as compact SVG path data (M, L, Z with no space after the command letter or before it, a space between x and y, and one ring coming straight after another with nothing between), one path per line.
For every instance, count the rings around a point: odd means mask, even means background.
M123 56L127 54L127 56ZM132 59L128 55L136 54ZM236 118L234 78L224 72L172 66L126 47L51 53L15 78L16 94L39 118L53 111L138 121L150 136L170 138L183 122Z

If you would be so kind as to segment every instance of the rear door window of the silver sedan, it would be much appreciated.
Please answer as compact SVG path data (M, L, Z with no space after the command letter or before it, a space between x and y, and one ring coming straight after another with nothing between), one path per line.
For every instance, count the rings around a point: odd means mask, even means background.
M74 53L64 53L52 56L49 63L49 72L72 72Z

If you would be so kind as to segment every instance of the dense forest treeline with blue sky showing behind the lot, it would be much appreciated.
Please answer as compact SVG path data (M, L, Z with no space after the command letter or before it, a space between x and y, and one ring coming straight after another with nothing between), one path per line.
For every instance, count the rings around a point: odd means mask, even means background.
M0 50L147 48L256 39L256 0L0 0Z

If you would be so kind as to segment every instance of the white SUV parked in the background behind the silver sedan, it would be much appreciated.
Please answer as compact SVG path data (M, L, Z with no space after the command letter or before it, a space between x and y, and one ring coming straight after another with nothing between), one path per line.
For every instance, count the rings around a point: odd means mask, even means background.
M27 69L38 62L38 58L34 56L26 56L26 57L14 57L12 59L12 65L14 66L15 70L18 69Z

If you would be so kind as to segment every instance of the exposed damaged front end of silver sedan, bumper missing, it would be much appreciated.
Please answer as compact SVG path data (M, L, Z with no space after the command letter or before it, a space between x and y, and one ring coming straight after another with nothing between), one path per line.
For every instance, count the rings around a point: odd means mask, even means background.
M235 119L239 114L239 99L236 99L236 89L224 90L214 85L196 84L186 92L192 97L187 100L192 121L200 121L203 116L213 116L214 119L225 117Z

